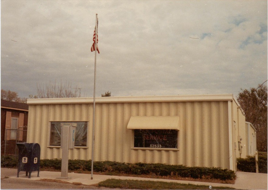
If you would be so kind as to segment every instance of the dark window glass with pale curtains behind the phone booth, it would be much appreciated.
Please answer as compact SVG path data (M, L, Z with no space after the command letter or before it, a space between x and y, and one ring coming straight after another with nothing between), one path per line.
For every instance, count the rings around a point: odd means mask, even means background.
M50 127L50 146L61 145L61 123L76 123L75 146L86 146L88 122L51 122Z

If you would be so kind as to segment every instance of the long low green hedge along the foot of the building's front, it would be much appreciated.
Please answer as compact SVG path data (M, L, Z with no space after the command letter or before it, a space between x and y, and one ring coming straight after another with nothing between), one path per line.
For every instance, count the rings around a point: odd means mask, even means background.
M16 167L7 163L7 158L1 157L1 167ZM17 162L16 162L17 164ZM205 167L186 167L183 165L166 165L166 164L145 164L145 163L120 163L113 161L95 161L95 172L111 172L112 174L132 174L132 175L158 175L158 176L180 176L187 178L214 178L220 180L235 179L235 172L221 168ZM41 168L51 168L61 170L61 160L44 159L40 161ZM86 160L69 160L69 171L91 171L91 161Z

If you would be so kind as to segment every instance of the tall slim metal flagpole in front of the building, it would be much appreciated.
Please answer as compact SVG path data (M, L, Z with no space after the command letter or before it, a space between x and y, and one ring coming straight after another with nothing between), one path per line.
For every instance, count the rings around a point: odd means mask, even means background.
M97 62L97 36L98 36L98 14L96 13L95 26L95 67L94 67L94 96L93 96L93 127L92 127L92 154L91 154L91 179L93 179L93 158L94 158L94 128L95 128L95 94L96 94L96 62Z

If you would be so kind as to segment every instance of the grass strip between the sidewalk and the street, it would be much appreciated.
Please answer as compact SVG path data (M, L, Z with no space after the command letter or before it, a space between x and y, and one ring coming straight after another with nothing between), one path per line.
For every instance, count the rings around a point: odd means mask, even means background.
M181 184L175 182L155 182L143 180L107 179L99 187L122 189L210 189L207 185ZM230 187L212 187L212 189L234 189Z

